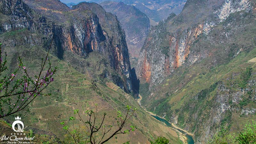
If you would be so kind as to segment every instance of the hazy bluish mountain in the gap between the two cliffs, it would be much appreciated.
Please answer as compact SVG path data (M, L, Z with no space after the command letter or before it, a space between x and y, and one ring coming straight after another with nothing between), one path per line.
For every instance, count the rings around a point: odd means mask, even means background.
M100 5L115 14L124 28L128 50L132 57L139 56L140 49L148 35L150 23L146 14L123 2L106 1Z

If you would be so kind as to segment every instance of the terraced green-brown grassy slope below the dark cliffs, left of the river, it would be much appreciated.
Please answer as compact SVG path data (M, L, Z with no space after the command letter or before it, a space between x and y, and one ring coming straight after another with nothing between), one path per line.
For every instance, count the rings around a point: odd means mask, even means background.
M15 65L18 66L18 56L23 59L27 69L30 70L29 73L32 75L40 67L40 60L46 55L46 52L41 46L22 43L25 37L28 38L30 36L40 38L37 34L30 34L27 29L6 32L0 36L0 42L4 43L4 50L8 54L9 61L11 61L11 63L8 63L9 66L12 66L10 71L15 68ZM13 42L17 42L15 47L12 45ZM21 46L18 45L19 42L22 43ZM92 53L91 55L97 55L97 53ZM131 95L118 88L113 90L113 86L116 87L114 84L108 87L98 81L96 82L98 88L95 88L92 85L92 76L88 73L81 74L77 72L72 66L53 55L50 55L50 60L52 66L58 67L55 81L45 91L51 92L52 95L37 97L30 105L30 112L22 112L20 114L25 126L28 126L27 129L33 128L36 133L51 133L63 140L66 132L62 129L60 122L70 123L68 118L69 116L74 116L74 109L84 110L87 106L93 106L94 103L97 103L99 105L99 113L108 113L106 124L114 124L115 126L116 123L113 123L113 121L117 116L117 110L124 112L124 107L130 105L138 108L136 115L130 121L137 126L137 129L129 135L117 135L117 139L113 138L109 143L123 143L126 141L149 143L148 140L157 136L165 136L171 139L172 143L181 142L178 139L178 134L173 129L165 127L162 123L149 116L139 107ZM95 62L97 63L97 60ZM95 69L95 71L98 70ZM6 120L12 123L13 118L14 116L10 116Z

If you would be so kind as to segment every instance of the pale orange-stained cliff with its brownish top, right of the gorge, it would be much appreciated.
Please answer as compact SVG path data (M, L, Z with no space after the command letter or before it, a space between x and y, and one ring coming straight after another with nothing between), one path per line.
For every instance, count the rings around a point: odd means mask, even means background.
M193 7L197 9L191 10ZM191 45L200 36L207 35L212 27L226 20L230 13L250 9L250 2L244 0L188 1L180 15L172 14L152 28L140 52L137 76L150 86L157 85L183 64L192 65L210 56L207 50L202 49L192 53Z

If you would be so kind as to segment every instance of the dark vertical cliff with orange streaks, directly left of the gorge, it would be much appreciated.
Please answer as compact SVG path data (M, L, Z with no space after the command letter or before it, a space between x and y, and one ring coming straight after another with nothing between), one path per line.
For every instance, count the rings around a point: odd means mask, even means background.
M127 77L125 79L123 79L123 77L119 77L119 79L115 78L115 83L127 92L132 91L130 61L125 36L115 16L106 13L103 8L101 8L101 10L99 9L102 12L100 18L93 12L81 14L76 10L72 11L60 1L54 1L56 2L55 7L52 7L52 5L45 7L42 3L34 3L30 0L24 2L30 5L35 11L45 15L45 17L43 16L42 21L40 21L42 24L39 23L37 28L34 28L33 26L28 27L29 29L39 29L44 35L51 35L52 32L54 35L54 45L57 48L52 51L54 51L60 59L67 58L69 62L75 64L75 61L72 60L73 58L68 57L68 55L65 54L66 50L68 50L67 52L74 52L80 57L86 57L88 53L94 50L109 55L108 59L110 60L110 67L114 68L119 74L122 75L123 73ZM84 6L86 6L86 4L87 3L85 3ZM80 18L76 19L75 17L72 17L74 14L77 16L79 15ZM106 28L108 27L107 25L105 27L106 31L102 29L104 28L104 25L102 25L104 15L107 15L109 20L113 20L113 26L115 28L108 30ZM47 23L46 21L48 19L46 17L52 22ZM87 20L91 22L87 22ZM78 24L77 22L79 21L82 24ZM52 25L50 23L52 23ZM84 29L89 35L86 35ZM59 33L60 31L62 33ZM115 37L115 35L118 36L118 38ZM117 43L120 45L116 45ZM112 51L114 51L114 53L112 53ZM81 72L85 72L84 68L82 68L84 66L81 65L79 67ZM109 79L112 79L111 75L108 76Z

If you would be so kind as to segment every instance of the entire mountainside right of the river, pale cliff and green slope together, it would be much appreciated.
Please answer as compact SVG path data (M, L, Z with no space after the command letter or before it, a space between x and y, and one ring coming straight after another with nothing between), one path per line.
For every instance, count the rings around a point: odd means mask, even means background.
M255 10L250 0L189 0L152 28L136 69L141 104L196 143L255 119Z

